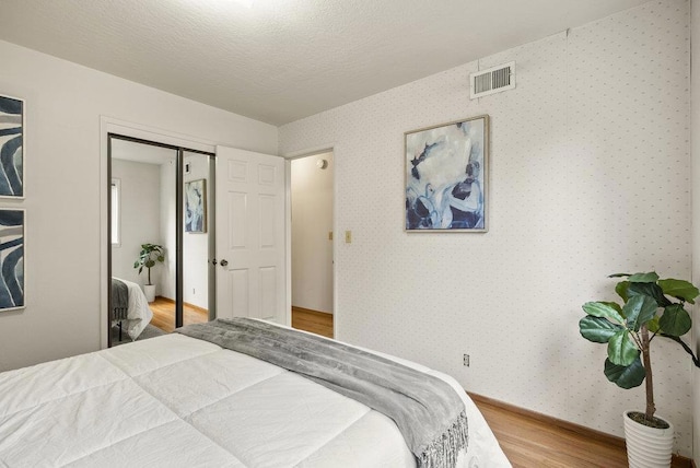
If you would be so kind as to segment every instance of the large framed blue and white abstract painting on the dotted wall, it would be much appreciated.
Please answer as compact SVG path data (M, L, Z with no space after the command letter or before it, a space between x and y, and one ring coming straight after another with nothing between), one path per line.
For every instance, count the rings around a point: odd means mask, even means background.
M406 132L406 231L486 232L489 116Z

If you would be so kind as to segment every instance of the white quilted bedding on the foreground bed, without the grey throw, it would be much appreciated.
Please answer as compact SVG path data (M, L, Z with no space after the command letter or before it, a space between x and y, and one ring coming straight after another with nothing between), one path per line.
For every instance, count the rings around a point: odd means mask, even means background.
M510 466L453 378L390 359L464 401L469 442L457 466ZM394 421L365 405L171 334L0 374L0 466L415 467L416 458Z

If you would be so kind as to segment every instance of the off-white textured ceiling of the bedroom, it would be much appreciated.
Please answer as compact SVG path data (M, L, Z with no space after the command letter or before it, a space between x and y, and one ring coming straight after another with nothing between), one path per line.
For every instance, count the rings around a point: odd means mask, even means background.
M644 2L0 0L0 39L282 125Z

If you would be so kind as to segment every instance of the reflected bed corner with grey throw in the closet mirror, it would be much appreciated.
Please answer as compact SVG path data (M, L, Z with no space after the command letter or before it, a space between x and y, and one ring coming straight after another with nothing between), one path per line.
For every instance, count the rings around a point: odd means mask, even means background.
M122 329L135 341L153 318L141 286L120 278L112 278L112 325L119 327L119 341Z

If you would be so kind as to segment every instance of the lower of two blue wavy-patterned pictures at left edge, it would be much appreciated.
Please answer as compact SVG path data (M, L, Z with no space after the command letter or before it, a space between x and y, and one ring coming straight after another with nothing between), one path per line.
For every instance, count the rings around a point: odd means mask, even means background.
M24 213L0 209L0 312L24 307Z

